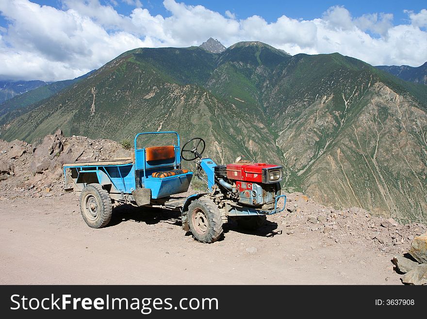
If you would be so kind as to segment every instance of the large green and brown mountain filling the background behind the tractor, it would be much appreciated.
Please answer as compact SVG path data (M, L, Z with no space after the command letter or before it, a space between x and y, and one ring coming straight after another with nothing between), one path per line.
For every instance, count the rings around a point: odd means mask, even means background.
M51 98L0 117L0 137L200 136L218 163L284 166L284 189L401 222L427 220L427 86L360 60L239 42L127 51ZM157 143L169 143L157 139ZM189 168L191 163L185 163Z

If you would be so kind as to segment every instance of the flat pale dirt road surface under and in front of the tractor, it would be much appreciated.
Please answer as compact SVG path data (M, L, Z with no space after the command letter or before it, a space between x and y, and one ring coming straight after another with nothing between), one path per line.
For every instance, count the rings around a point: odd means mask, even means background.
M230 223L223 240L201 244L171 211L121 206L91 229L74 194L3 197L0 284L401 285L392 252L337 243L292 214L256 232Z

